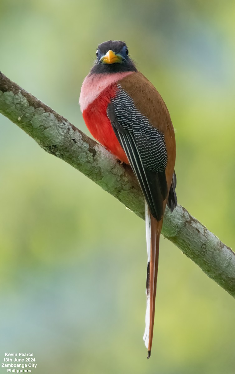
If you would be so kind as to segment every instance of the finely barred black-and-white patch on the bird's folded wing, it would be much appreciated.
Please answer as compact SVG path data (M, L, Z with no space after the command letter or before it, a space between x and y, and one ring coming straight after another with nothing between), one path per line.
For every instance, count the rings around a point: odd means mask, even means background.
M134 136L143 166L149 171L164 171L167 166L164 134L135 108L134 101L121 86L112 102L118 124Z

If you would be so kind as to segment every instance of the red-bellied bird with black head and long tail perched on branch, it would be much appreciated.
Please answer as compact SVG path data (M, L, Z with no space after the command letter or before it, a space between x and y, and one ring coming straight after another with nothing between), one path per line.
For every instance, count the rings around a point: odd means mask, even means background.
M147 306L143 340L150 358L158 276L159 238L166 205L177 206L176 140L165 102L137 70L120 40L98 45L79 98L91 135L131 166L145 200Z

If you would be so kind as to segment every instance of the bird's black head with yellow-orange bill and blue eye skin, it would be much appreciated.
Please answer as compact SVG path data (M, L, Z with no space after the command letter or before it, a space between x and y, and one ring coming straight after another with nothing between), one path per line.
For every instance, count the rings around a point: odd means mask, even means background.
M123 71L137 71L134 62L129 58L125 42L109 40L98 45L97 61L91 69L92 74L120 73Z

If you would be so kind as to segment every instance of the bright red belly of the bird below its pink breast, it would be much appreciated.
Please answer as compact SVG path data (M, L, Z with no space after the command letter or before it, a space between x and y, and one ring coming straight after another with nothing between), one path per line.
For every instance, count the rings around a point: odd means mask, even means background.
M106 88L97 99L83 110L82 115L91 135L112 152L117 159L129 164L126 154L116 138L106 113L110 99L115 96L116 90L116 85L111 85Z

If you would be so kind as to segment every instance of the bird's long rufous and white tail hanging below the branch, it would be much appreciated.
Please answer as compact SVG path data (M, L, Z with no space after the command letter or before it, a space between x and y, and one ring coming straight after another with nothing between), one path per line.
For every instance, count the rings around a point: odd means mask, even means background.
M146 241L147 241L147 307L145 316L145 331L144 344L148 349L148 357L151 355L152 341L153 341L153 324L155 313L155 298L158 277L158 257L159 257L159 239L162 229L162 221L157 221L149 211L147 203L145 203L145 218L146 218Z

